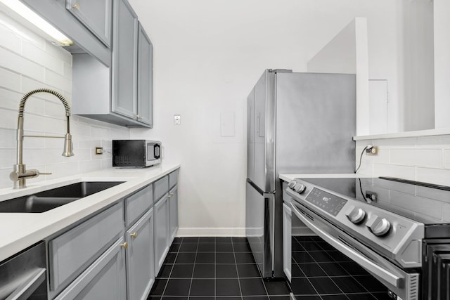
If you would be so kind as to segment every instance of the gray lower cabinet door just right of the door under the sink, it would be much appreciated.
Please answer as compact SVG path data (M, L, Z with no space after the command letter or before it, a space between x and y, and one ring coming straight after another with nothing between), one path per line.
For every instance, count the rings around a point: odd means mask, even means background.
M153 209L147 211L125 235L128 300L145 300L155 281L153 261Z

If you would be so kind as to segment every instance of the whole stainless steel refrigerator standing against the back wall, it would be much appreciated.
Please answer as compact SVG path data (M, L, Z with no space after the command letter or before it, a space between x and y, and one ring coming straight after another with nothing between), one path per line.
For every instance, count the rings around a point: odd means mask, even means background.
M248 96L245 231L264 278L283 277L279 174L353 173L354 74L265 70Z

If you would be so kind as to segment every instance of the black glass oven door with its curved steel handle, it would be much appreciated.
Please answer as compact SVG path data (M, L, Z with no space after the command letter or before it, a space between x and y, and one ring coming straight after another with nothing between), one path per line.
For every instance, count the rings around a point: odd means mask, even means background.
M293 296L419 299L418 273L394 266L302 204L293 201L290 208L293 226L301 221L317 235L292 238Z

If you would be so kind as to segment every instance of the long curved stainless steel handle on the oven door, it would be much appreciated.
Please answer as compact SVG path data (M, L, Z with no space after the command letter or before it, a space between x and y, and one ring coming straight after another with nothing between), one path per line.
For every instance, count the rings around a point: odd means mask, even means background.
M366 270L369 270L374 275L378 276L379 278L383 278L383 280L385 280L386 282L389 282L390 285L393 285L394 287L400 287L402 278L393 274L389 270L385 270L385 268L378 266L376 263L373 263L373 261L367 259L359 252L356 252L356 250L348 247L346 244L340 242L340 240L336 239L332 235L329 235L321 228L314 225L314 223L311 223L311 221L309 221L307 217L303 216L303 214L297 209L297 207L295 207L295 204L291 203L290 208L293 210L298 219L300 219L300 221L305 223L311 230L314 231L314 233L323 238L323 240L326 240L326 242L331 244L343 254L347 255L350 259L353 259L356 263L359 263L359 265L363 268L366 268Z

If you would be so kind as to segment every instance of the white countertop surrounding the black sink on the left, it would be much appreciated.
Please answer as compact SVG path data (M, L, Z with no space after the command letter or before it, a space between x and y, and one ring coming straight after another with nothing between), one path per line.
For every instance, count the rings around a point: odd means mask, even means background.
M179 167L179 164L160 164L145 169L103 169L36 183L30 179L27 181L27 188L21 190L0 189L0 201L4 201L79 181L126 181L113 188L42 213L0 213L0 261L89 216L98 209L120 200L135 190L143 188L148 183Z

